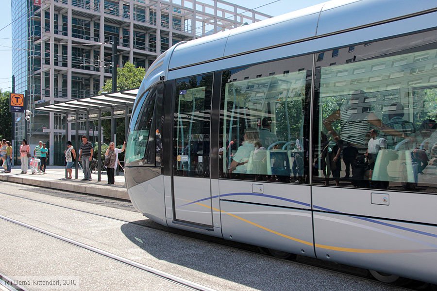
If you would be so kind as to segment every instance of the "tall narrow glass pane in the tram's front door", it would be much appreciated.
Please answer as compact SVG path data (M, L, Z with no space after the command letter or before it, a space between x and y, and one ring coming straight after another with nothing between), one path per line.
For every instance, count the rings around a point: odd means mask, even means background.
M173 175L209 177L213 74L176 81Z

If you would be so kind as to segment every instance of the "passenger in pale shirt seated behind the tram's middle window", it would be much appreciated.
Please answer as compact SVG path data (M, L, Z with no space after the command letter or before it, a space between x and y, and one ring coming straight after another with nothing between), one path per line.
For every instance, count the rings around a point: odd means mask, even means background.
M247 171L247 162L251 152L255 150L255 141L258 140L258 131L253 128L248 128L244 132L244 141L238 147L234 157L232 158L229 172L245 174Z

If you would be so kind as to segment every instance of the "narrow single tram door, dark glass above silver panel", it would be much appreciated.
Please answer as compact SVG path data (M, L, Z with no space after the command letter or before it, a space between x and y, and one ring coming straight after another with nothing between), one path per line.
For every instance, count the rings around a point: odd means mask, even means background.
M212 226L210 119L213 74L176 81L173 119L173 217Z

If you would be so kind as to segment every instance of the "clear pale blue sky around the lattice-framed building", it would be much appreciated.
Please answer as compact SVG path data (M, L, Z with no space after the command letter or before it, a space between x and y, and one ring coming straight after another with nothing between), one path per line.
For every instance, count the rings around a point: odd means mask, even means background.
M233 0L232 2L271 16L278 16L325 1L326 0ZM0 90L11 91L12 49L14 49L11 48L11 0L1 0L1 2L3 3L3 5L1 5L3 9L0 11Z

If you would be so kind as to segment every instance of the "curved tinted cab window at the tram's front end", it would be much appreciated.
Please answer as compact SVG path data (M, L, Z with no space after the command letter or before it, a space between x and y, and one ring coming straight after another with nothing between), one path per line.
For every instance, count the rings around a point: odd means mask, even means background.
M131 118L126 145L126 165L154 166L154 131L152 120L156 87L141 97Z

